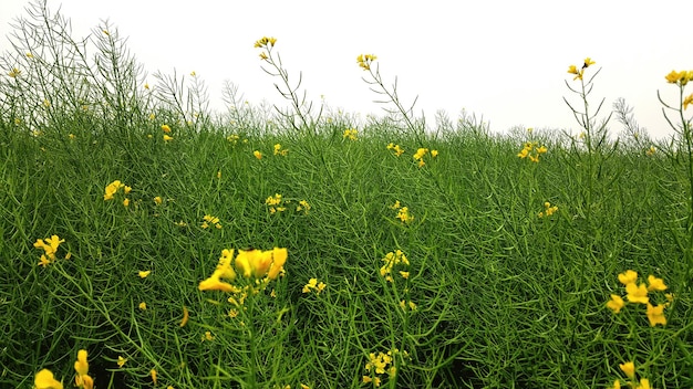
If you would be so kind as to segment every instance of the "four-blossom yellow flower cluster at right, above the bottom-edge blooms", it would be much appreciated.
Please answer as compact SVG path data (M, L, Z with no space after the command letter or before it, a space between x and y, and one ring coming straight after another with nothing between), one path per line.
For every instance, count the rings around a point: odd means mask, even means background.
M663 292L668 286L662 278L658 278L654 275L648 276L648 285L644 283L638 284L638 272L628 270L619 274L619 282L625 285L625 298L629 303L644 304L647 306L645 314L650 320L650 326L654 327L658 324L666 325L666 317L664 316L664 308L673 301L673 294L665 294L668 303L652 305L650 304L650 292ZM607 307L613 311L614 314L621 312L625 306L625 302L618 294L612 294L611 299L607 303Z

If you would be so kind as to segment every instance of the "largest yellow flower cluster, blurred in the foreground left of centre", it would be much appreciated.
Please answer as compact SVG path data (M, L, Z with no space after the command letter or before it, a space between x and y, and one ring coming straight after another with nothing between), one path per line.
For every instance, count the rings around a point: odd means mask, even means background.
M221 251L217 269L207 280L199 283L198 288L200 291L237 293L240 290L239 287L223 281L236 280L236 271L245 278L255 277L256 280L262 280L266 284L283 273L287 256L287 249L275 248L269 251L238 250L238 255L234 260L234 250L225 249ZM231 262L234 262L234 265L231 265Z

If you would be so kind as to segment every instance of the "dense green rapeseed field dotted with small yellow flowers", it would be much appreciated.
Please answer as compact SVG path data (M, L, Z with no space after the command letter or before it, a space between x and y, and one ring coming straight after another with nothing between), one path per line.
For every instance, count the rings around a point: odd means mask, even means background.
M693 72L661 140L598 125L589 59L582 134L425 127L368 57L384 117L214 114L38 11L0 60L0 387L74 387L86 350L104 389L693 388Z

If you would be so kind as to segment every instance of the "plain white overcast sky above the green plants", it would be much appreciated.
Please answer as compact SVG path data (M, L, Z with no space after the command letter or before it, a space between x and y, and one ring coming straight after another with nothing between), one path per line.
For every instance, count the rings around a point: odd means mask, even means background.
M1 0L0 49L9 22L27 0ZM10 3L11 2L11 3ZM239 86L252 104L285 103L276 80L260 69L262 36L278 39L276 51L316 103L332 108L382 114L374 93L361 81L361 53L377 55L387 83L399 78L405 104L418 95L417 112L444 109L455 120L464 107L483 115L495 132L511 126L578 132L562 97L578 103L565 80L570 64L591 56L601 67L593 106L604 113L618 97L654 137L671 134L656 91L678 98L664 75L693 70L691 3L684 0L49 0L72 20L74 38L108 20L149 74L195 71L205 80L213 106L221 106L224 80ZM682 19L683 18L683 19ZM2 73L7 73L2 70ZM154 78L149 77L153 82ZM577 86L577 82L576 82ZM693 87L690 87L693 93ZM693 114L693 112L691 112ZM612 122L620 132L621 125Z

